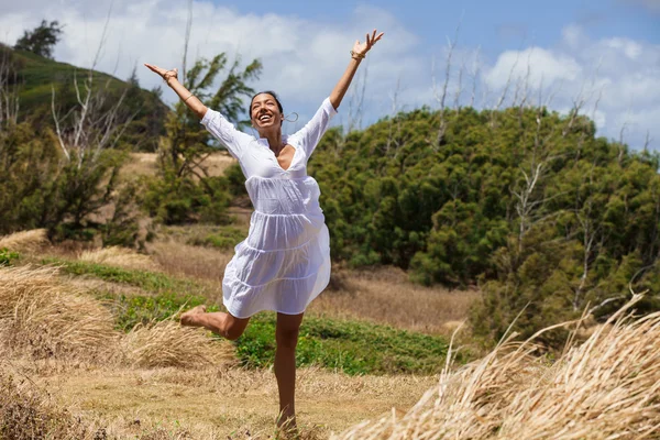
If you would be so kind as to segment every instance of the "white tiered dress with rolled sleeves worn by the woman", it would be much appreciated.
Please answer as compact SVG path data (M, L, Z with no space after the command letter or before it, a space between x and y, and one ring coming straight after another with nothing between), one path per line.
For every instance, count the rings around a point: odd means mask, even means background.
M254 206L248 238L234 248L222 280L224 306L237 318L301 314L330 280L330 235L307 161L334 114L327 98L301 130L283 136L296 150L286 170L267 140L238 131L211 109L201 120L239 161Z

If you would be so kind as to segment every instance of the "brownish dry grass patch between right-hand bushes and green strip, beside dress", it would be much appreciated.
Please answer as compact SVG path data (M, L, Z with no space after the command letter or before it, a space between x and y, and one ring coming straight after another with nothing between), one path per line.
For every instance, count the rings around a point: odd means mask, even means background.
M451 334L479 298L474 290L415 285L396 267L372 272L336 270L333 282L334 288L320 295L310 311L425 333Z

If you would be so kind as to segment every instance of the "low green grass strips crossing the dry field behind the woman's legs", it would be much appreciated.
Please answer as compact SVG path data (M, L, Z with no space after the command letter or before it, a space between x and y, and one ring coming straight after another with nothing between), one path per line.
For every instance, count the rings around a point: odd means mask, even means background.
M209 311L219 306L208 304L194 282L165 274L131 271L102 264L46 258L73 275L92 275L113 283L140 287L155 295L127 296L97 292L109 304L117 328L129 331L138 323L163 320L182 308L207 304ZM193 294L195 293L195 294ZM275 358L273 312L257 314L245 333L235 342L237 353L246 367L270 367ZM435 374L442 370L448 343L441 337L397 330L363 321L305 317L300 328L297 363L320 365L346 374ZM462 361L459 359L459 362Z

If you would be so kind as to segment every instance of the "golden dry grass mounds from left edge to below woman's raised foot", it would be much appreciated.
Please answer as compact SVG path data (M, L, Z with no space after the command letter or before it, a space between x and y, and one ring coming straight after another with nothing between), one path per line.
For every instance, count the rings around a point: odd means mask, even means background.
M199 329L163 321L114 330L108 307L63 282L56 267L0 268L0 345L34 359L86 361L106 366L190 367L232 364L233 345Z

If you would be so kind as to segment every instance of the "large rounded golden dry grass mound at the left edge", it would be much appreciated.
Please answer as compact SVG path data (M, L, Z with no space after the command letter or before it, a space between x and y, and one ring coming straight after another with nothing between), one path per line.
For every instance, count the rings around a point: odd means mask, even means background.
M94 358L118 340L108 310L53 267L0 268L0 332L7 346L34 358Z

